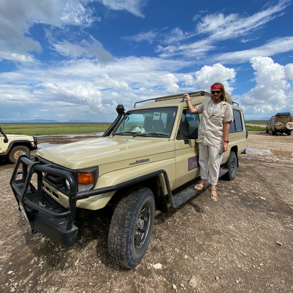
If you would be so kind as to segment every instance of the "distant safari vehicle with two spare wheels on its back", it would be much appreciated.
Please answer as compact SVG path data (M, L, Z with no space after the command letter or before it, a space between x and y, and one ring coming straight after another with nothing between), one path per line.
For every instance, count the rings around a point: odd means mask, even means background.
M272 116L266 126L266 132L271 132L272 135L286 133L291 135L293 130L293 118L289 112L280 112Z

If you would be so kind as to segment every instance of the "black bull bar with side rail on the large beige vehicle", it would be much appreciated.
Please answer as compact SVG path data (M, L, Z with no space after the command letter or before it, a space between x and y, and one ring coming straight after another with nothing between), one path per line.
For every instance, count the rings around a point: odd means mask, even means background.
M21 171L19 171L20 165L22 165ZM15 164L10 179L10 186L18 202L19 209L22 210L32 228L32 233L40 232L66 245L73 245L75 243L78 228L73 225L73 222L76 214L76 202L80 199L116 191L142 180L163 174L169 201L171 206L174 206L169 180L165 170L154 171L114 186L77 192L77 185L73 175L68 171L56 169L51 166L50 164L41 165L39 162L32 162L26 157L25 153L22 153ZM68 180L70 186L70 193L67 194L69 209L65 209L43 190L42 172L60 176ZM37 174L37 188L31 183L34 173ZM21 176L21 178L17 179L18 176Z

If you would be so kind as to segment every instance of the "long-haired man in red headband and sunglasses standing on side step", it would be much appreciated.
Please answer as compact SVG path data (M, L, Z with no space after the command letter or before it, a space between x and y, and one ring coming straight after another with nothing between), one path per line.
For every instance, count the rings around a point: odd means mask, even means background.
M206 180L209 178L209 196L212 201L217 201L216 185L219 177L222 155L219 151L224 148L228 150L228 137L230 124L233 121L233 109L227 103L224 85L214 83L210 87L210 101L206 101L196 107L190 102L188 94L188 109L190 113L202 114L199 127L198 139L196 142L199 147L199 167L201 181L194 186L196 190L202 190L206 186ZM208 176L209 164L209 176Z

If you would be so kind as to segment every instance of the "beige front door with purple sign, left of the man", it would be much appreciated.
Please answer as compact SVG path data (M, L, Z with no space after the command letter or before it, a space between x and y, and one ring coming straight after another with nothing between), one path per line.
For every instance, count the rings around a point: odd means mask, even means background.
M199 115L183 109L181 122L175 139L176 180L174 188L199 176L198 148L195 139L185 144L189 126L199 126Z

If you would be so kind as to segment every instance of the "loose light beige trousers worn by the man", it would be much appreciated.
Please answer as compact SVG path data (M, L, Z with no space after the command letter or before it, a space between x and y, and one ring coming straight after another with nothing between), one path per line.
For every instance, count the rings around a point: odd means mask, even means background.
M218 147L204 146L198 143L199 156L198 163L200 169L200 178L209 179L211 185L217 185L219 178L220 165L222 163L222 155L219 155ZM208 177L209 164L209 177Z

